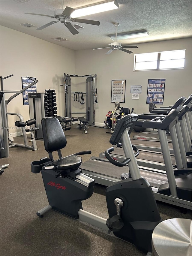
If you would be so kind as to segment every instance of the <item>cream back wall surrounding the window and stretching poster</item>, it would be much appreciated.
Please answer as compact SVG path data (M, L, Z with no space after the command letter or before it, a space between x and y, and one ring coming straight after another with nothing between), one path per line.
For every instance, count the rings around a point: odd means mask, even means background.
M114 103L111 103L111 80L126 80L125 103L121 103L121 106L130 109L133 107L134 113L138 114L149 112L149 104L146 104L148 79L166 79L163 106L172 105L181 96L188 97L191 94L191 38L142 43L137 46L138 49L133 49L132 54L115 50L105 55L108 49L75 52L76 74L97 74L96 124L102 125L108 111L114 109ZM182 49L186 49L184 69L133 71L134 54ZM132 100L131 85L142 86L138 100Z

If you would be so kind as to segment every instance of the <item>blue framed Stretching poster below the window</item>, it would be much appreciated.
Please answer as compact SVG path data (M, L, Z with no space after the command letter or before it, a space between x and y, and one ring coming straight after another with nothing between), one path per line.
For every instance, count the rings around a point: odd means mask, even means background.
M165 79L149 79L147 87L147 104L163 104Z

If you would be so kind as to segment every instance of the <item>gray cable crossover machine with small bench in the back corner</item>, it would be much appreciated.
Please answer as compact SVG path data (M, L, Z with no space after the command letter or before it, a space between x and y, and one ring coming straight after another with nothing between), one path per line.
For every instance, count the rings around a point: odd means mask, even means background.
M86 79L86 91L85 92L71 92L71 77L87 77ZM97 75L69 75L64 73L64 85L65 86L65 114L71 118L72 114L86 114L85 117L78 117L80 124L79 128L84 128L84 133L87 132L87 125L95 125L95 103L97 102L97 88L96 88ZM81 95L80 104L85 103L84 112L72 112L71 110L71 95L74 94L73 100L77 101L77 95ZM83 95L86 95L86 101L84 101Z

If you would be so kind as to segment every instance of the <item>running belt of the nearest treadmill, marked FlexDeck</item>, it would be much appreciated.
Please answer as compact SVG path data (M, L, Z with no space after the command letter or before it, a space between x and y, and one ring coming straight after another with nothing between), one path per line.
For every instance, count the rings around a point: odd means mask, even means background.
M86 170L91 171L93 176L99 174L106 175L108 177L119 178L121 180L122 173L128 173L128 166L117 167L107 161L98 161L89 159L81 165L82 173L86 174ZM85 172L84 172L85 171ZM152 187L159 188L161 184L167 183L167 175L161 173L150 172L141 170L141 176L144 177Z

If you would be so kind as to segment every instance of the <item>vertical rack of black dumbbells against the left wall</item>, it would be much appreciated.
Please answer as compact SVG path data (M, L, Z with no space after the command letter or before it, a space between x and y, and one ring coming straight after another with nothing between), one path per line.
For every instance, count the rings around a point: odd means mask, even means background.
M55 116L57 114L55 90L45 90L44 102L45 117Z

